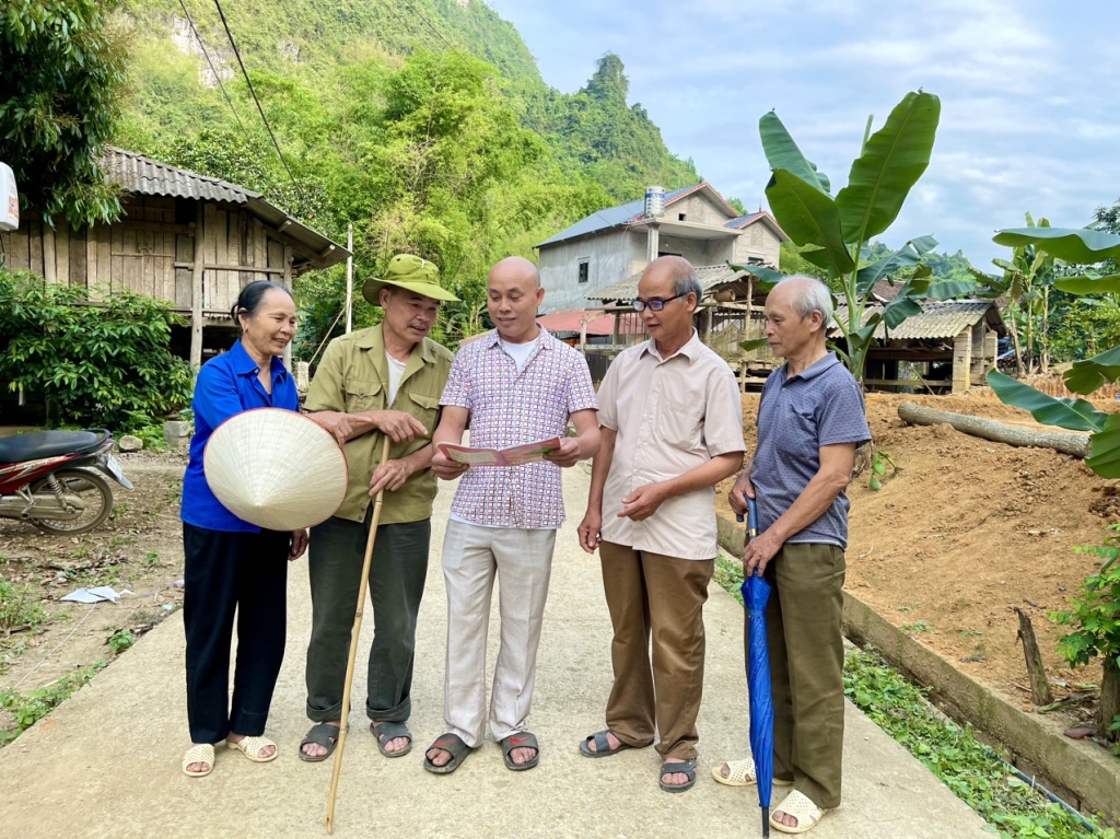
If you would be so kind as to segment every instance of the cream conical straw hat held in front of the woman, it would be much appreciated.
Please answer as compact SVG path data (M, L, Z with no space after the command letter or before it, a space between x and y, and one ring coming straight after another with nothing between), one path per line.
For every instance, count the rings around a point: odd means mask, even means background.
M231 417L203 453L206 483L225 507L267 530L326 521L346 497L346 455L323 426L295 411L256 408Z

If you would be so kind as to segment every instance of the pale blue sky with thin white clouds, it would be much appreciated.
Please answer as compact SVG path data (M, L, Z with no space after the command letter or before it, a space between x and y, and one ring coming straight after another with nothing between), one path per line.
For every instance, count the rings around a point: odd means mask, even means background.
M763 113L777 110L834 193L868 114L881 127L918 87L941 97L941 125L889 244L933 234L989 269L1007 254L993 232L1025 212L1082 226L1120 198L1116 0L489 2L566 93L622 56L629 101L670 150L748 209L765 203Z

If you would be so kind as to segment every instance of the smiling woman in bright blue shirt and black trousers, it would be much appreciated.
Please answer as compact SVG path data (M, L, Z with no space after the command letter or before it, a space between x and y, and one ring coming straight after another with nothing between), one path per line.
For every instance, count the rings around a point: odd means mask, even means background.
M214 744L263 763L277 756L264 734L287 632L288 562L307 549L307 531L262 530L214 497L203 451L214 429L254 408L299 410L296 383L278 357L296 335L296 305L282 286L251 282L231 313L241 339L198 372L195 436L183 478L186 554L183 623L187 634L187 719L192 747L183 771L214 768ZM252 453L246 453L251 457ZM230 645L237 616L237 664L228 696Z

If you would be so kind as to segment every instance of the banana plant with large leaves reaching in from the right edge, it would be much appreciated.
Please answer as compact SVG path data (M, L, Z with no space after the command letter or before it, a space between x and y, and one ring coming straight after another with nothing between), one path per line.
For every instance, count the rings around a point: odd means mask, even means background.
M1096 230L1066 227L1017 227L999 231L992 240L1010 248L1035 248L1070 264L1091 265L1120 259L1120 236ZM1055 286L1072 295L1105 295L1120 288L1120 274L1085 272L1063 277ZM1063 376L1071 393L1084 397L1120 380L1120 347L1073 363ZM1085 465L1104 478L1120 477L1120 413L1098 410L1080 398L1057 399L998 371L988 373L988 384L999 399L1029 411L1037 422L1090 432Z

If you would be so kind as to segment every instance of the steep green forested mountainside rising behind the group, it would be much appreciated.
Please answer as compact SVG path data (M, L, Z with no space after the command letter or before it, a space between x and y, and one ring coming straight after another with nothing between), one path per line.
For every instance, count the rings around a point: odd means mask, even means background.
M576 93L550 88L482 0L226 0L223 10L287 166L208 0L124 0L115 142L263 192L337 241L353 223L360 278L399 251L431 259L464 300L442 339L484 326L496 259L532 257L536 242L646 185L698 179L627 103L618 56ZM340 278L298 288L305 344L326 335Z

